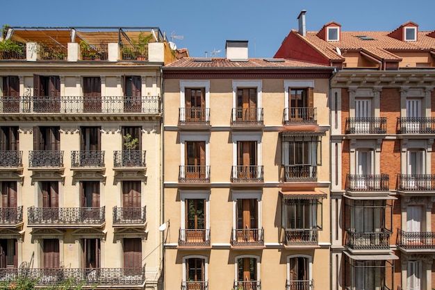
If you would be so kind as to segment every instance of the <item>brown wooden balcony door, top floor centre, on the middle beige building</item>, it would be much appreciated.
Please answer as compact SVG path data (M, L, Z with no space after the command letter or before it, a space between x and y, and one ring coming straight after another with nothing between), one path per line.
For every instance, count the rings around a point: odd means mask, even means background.
M257 89L237 89L237 121L257 120Z

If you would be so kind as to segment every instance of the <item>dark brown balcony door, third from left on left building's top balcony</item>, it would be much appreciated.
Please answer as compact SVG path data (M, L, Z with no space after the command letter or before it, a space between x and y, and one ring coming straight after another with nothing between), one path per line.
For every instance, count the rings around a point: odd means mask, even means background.
M101 78L83 77L83 112L101 112Z

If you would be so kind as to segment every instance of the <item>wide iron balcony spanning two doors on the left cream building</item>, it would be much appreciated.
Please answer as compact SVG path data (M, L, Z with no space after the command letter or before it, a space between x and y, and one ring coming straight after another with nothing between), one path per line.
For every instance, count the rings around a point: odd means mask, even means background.
M28 207L28 225L56 227L100 227L106 221L106 207Z

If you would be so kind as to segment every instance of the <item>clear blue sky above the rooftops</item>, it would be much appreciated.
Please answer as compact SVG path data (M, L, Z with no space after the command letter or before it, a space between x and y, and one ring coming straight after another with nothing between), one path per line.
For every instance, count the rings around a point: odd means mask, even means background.
M306 10L306 30L327 22L343 31L393 31L412 21L435 30L435 0L0 0L0 24L10 26L154 26L190 56L208 56L226 40L248 40L249 58L272 58Z

